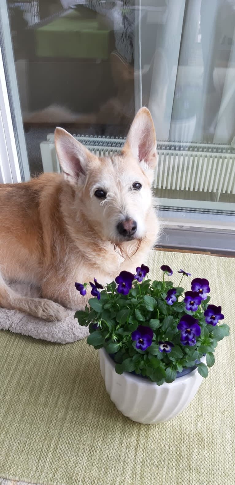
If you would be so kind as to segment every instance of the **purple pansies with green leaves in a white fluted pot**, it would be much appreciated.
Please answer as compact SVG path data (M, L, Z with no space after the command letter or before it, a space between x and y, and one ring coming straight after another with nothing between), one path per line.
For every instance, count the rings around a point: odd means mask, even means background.
M229 327L219 324L221 307L210 305L209 282L194 278L191 290L161 266L162 281L148 279L142 264L133 275L121 271L104 288L90 282L89 307L77 311L80 325L88 325L87 342L99 349L106 389L117 408L132 420L157 423L170 420L192 400L208 367L215 362L219 340ZM75 283L82 295L88 283Z

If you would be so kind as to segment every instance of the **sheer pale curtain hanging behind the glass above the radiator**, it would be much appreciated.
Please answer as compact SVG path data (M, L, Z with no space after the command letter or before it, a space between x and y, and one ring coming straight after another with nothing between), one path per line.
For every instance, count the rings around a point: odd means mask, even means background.
M142 0L142 9L147 4ZM143 104L153 115L158 139L230 144L235 136L235 0L159 0L155 7L156 38L151 48L151 20L144 17L141 57ZM147 44L153 51L148 82Z

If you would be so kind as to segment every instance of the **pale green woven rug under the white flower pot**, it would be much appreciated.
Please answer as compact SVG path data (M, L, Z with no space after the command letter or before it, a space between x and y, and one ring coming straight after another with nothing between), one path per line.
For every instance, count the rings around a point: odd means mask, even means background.
M161 264L171 266L176 284L180 268L207 277L231 326L191 405L163 424L132 422L109 400L86 341L59 345L1 331L0 477L48 485L235 484L235 259L152 252L155 277Z

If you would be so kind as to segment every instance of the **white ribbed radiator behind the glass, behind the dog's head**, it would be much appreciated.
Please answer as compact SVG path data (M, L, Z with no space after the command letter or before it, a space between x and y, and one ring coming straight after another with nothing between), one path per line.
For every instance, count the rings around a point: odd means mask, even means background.
M73 135L98 156L118 153L124 138ZM59 172L54 134L40 144L44 172ZM235 194L235 149L230 145L159 142L154 187L184 191Z

